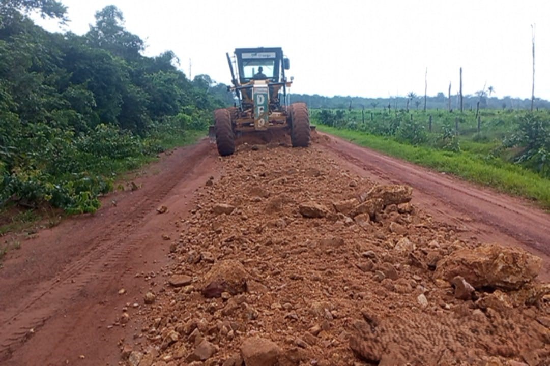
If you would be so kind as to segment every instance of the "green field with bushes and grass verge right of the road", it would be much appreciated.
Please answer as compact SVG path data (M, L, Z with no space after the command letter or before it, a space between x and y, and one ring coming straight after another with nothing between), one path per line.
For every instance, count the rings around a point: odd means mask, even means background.
M550 110L482 110L476 118L474 111L322 109L312 110L312 120L362 145L550 208Z

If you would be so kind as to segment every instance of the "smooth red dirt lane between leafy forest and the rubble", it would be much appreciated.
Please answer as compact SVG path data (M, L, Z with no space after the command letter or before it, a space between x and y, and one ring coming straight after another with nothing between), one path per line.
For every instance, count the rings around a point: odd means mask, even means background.
M142 305L153 272L168 260L162 235L174 234L164 230L189 210L216 161L206 140L177 149L135 180L140 189L114 193L95 215L66 220L11 251L0 270L0 364L117 364L116 341L130 330L108 329L113 314ZM161 204L169 212L158 214Z

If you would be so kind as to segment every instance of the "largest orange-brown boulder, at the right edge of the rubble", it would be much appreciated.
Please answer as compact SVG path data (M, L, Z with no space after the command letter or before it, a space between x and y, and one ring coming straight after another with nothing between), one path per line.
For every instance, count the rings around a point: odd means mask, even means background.
M522 249L492 244L451 253L437 262L434 276L449 282L462 276L475 289L517 290L537 276L541 265L541 258Z

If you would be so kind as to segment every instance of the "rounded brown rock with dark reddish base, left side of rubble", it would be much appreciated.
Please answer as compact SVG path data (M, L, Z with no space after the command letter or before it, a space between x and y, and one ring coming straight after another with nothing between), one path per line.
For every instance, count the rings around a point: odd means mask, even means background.
M238 260L222 260L213 264L205 275L202 295L220 297L222 292L229 292L232 295L245 292L248 279L246 269Z

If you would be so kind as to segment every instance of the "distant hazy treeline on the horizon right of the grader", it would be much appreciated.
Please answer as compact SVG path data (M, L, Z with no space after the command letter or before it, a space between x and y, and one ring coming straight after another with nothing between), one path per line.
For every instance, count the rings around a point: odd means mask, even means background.
M375 108L375 109L410 109L422 110L424 108L424 96L412 95L389 97L389 98L361 98L351 96L334 96L326 97L318 94L290 94L290 103L294 102L306 102L310 108L326 108L326 109L362 109ZM530 109L531 99L520 99L505 96L498 98L495 96L485 95L465 95L463 97L463 109L464 110L476 110L477 102L480 103L480 109ZM408 108L407 108L408 106ZM549 109L550 102L544 99L535 98L535 108ZM426 98L426 109L449 109L449 98L442 92L437 93L436 96L428 96ZM460 98L456 95L450 97L450 109L460 109Z

